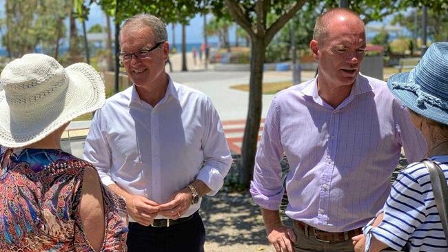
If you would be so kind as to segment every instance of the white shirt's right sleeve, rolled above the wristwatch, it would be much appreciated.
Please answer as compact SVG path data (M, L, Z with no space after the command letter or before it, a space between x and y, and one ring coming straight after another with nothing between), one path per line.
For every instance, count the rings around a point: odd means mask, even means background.
M207 195L214 196L223 187L224 178L232 165L232 155L225 140L223 125L210 99L205 99L204 106L205 130L201 144L205 164L196 179L212 189Z

